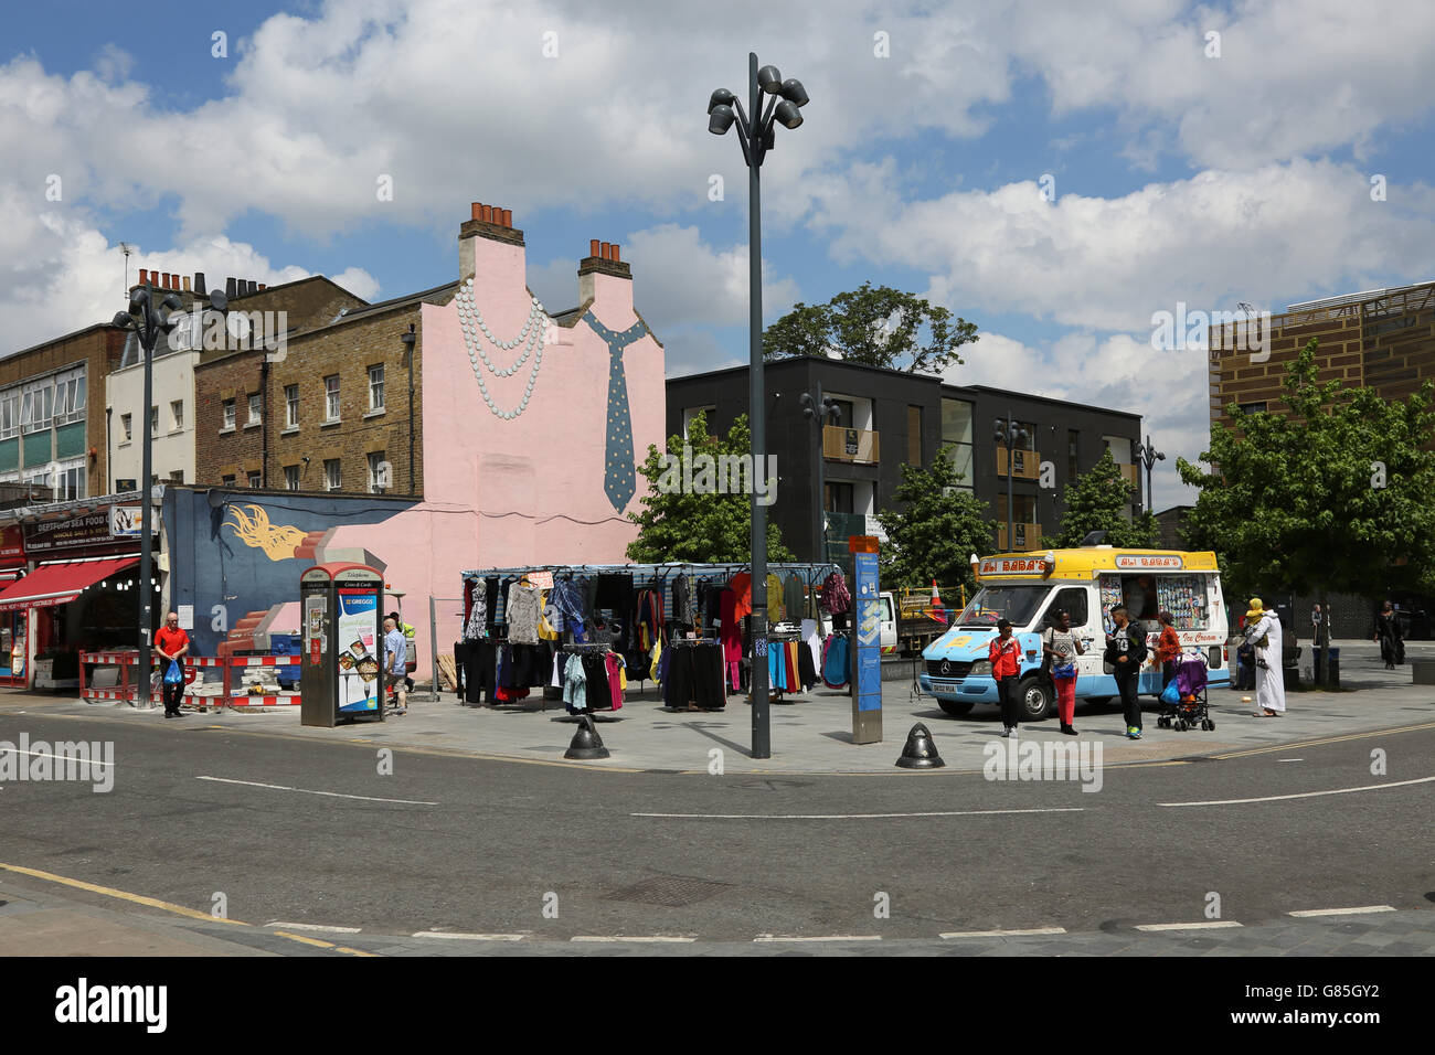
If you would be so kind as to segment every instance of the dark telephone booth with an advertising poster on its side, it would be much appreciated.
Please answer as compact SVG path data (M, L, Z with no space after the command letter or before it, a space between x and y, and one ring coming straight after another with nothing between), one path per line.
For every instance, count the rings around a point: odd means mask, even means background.
M300 723L383 721L383 576L366 564L319 564L298 577L303 613Z

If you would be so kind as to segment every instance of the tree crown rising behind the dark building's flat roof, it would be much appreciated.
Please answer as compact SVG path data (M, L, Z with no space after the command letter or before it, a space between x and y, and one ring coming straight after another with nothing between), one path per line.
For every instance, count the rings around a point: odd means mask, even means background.
M927 342L921 343L926 329ZM940 373L961 365L957 352L977 339L976 323L953 320L951 311L890 286L838 293L825 304L794 304L792 310L762 334L768 359L838 353L850 363Z

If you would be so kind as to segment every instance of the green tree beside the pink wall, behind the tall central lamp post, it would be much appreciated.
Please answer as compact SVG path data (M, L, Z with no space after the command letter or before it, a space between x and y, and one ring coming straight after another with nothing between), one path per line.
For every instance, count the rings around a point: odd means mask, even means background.
M682 436L669 436L667 451L672 458L683 456ZM718 464L720 456L745 456L752 451L752 432L748 416L739 418L728 429L726 436L707 432L707 415L699 413L687 426L686 446L690 449L690 465L703 465L703 455ZM738 564L752 558L752 495L751 494L684 494L660 485L664 472L673 478L664 465L657 446L649 444L647 459L639 466L647 479L649 492L639 500L640 512L630 512L629 520L637 524L639 533L627 545L627 557L643 564L683 561L690 564ZM676 475L682 475L682 471ZM667 481L663 481L666 484ZM773 482L775 485L775 482ZM696 488L695 488L696 491ZM768 521L768 560L796 560L782 544L782 533Z

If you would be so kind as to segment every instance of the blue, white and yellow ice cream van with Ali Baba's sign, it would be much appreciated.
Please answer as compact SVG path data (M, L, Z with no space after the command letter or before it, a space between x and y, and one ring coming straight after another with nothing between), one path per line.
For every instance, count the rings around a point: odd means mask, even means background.
M966 715L977 703L997 705L987 649L1000 619L1012 623L1020 646L1026 721L1050 715L1055 689L1040 676L1040 639L1059 609L1071 613L1072 633L1086 650L1076 660L1078 703L1118 695L1116 680L1102 662L1106 633L1115 629L1111 609L1118 604L1126 607L1134 624L1145 627L1152 653L1161 630L1157 613L1170 611L1182 652L1205 659L1210 686L1230 686L1225 603L1214 553L1088 545L982 557L974 571L977 591L971 601L921 653L921 690L949 715ZM1159 693L1161 669L1145 666L1137 690Z

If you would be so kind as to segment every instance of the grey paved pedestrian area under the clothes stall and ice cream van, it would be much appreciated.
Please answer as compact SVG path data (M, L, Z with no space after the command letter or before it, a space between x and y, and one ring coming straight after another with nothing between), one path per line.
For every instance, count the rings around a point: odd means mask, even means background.
M1119 706L1078 708L1081 742L1102 746L1102 765L1167 762L1190 756L1279 748L1333 736L1379 729L1406 728L1435 721L1435 688L1413 685L1409 666L1385 670L1369 643L1342 643L1342 692L1290 692L1283 718L1251 716L1250 693L1211 690L1213 732L1159 729L1155 700L1147 699L1145 738L1124 736ZM1435 646L1411 646L1412 657L1431 655ZM996 708L976 708L951 718L930 696L914 695L908 682L883 683L884 741L852 744L851 696L845 690L818 688L811 693L772 705L772 758L753 759L752 712L742 695L728 698L722 712L670 713L659 692L649 685L630 690L621 711L600 713L598 732L611 756L601 761L567 762L563 755L577 729L561 702L538 698L519 706L466 706L455 693L438 702L415 702L408 715L386 722L349 723L334 729L300 725L297 706L264 711L191 713L188 725L214 725L263 733L316 738L331 742L375 744L416 751L458 752L555 765L585 765L603 769L709 772L802 772L878 774L891 772L908 729L923 722L931 731L947 764L941 772L980 769L1002 731ZM46 695L0 693L7 709L34 706L44 713L95 715L135 722L162 722L162 711L135 709L121 703L85 703ZM1036 741L1073 742L1060 735L1055 719L1022 726L1020 736Z

